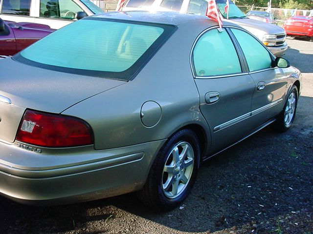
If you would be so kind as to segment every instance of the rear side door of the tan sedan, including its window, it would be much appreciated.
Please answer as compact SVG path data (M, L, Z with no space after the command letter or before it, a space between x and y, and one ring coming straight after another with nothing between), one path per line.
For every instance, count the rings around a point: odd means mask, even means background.
M213 153L251 131L247 119L255 85L226 30L204 32L195 43L191 61Z

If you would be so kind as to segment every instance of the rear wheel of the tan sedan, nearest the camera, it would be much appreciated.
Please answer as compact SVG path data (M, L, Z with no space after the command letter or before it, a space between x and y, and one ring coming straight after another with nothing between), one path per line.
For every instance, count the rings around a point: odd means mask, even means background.
M158 152L139 198L156 210L174 209L191 191L199 158L197 135L189 129L175 133Z

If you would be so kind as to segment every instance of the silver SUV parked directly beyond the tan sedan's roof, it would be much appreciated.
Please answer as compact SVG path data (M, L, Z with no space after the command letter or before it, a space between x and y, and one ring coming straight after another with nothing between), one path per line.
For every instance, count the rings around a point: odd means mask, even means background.
M217 6L223 15L224 21L236 23L252 33L275 55L281 56L288 46L285 42L285 30L277 25L252 20L229 0L228 19L225 12L226 0L216 0ZM128 10L171 10L180 13L190 13L195 15L205 15L207 1L205 0L129 0L123 7L123 11Z

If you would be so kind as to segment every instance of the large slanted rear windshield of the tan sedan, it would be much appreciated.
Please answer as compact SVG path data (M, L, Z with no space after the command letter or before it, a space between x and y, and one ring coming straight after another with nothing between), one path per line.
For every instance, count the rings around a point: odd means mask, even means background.
M50 70L129 80L174 29L162 24L78 20L13 59Z

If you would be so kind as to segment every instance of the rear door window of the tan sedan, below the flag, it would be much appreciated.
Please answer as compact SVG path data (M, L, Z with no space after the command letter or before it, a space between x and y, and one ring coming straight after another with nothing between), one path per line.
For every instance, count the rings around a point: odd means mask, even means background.
M201 36L193 51L196 76L241 73L236 49L227 32L212 29Z

